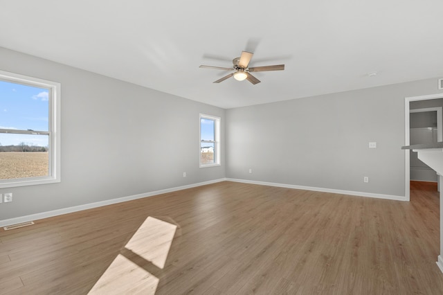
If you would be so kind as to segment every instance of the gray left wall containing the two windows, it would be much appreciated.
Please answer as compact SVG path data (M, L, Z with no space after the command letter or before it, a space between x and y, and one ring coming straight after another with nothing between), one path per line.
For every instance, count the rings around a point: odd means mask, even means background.
M199 113L225 111L0 48L0 69L62 84L62 182L1 189L0 220L225 177L199 168ZM183 172L187 177L183 178Z

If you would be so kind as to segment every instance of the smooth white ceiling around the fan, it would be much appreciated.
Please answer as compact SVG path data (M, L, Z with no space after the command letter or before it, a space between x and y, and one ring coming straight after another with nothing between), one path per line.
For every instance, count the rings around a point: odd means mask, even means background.
M0 46L228 109L443 76L442 11L442 0L0 0ZM286 69L254 73L256 85L199 69L243 50L250 66Z

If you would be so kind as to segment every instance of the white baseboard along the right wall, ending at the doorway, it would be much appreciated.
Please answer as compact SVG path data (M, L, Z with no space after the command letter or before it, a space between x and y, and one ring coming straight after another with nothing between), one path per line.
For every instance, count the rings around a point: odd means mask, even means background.
M261 186L277 186L279 188L295 188L297 190L313 190L315 192L322 192L322 193L334 193L334 194L352 195L352 196L359 196L359 197L373 197L373 198L377 198L377 199L392 199L395 201L408 201L408 199L406 199L406 197L404 197L404 196L353 192L352 190L334 190L332 188L314 188L311 186L296 186L294 184L276 184L273 182L254 181L254 180L246 180L246 179L233 179L233 178L227 178L226 181L242 182L244 184L259 184Z

